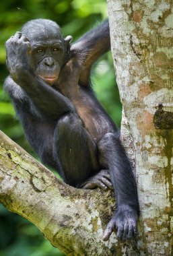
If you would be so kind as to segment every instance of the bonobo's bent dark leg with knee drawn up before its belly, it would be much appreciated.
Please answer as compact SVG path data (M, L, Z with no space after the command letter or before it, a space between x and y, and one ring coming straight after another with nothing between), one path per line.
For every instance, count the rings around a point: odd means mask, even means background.
M55 129L54 158L66 183L79 187L98 169L96 143L75 113L59 119Z

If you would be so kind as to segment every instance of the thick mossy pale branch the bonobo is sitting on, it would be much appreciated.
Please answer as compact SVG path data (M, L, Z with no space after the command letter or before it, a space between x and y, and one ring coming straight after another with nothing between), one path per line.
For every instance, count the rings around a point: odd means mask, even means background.
M115 235L102 241L111 193L70 187L0 131L0 202L67 255L114 255Z

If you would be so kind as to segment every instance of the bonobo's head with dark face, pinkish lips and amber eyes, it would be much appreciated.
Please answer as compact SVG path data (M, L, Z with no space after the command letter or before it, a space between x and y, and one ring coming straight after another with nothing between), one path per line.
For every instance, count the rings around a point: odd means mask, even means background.
M34 72L52 86L67 59L72 37L63 39L59 26L45 19L27 22L21 32L30 41L30 61Z

